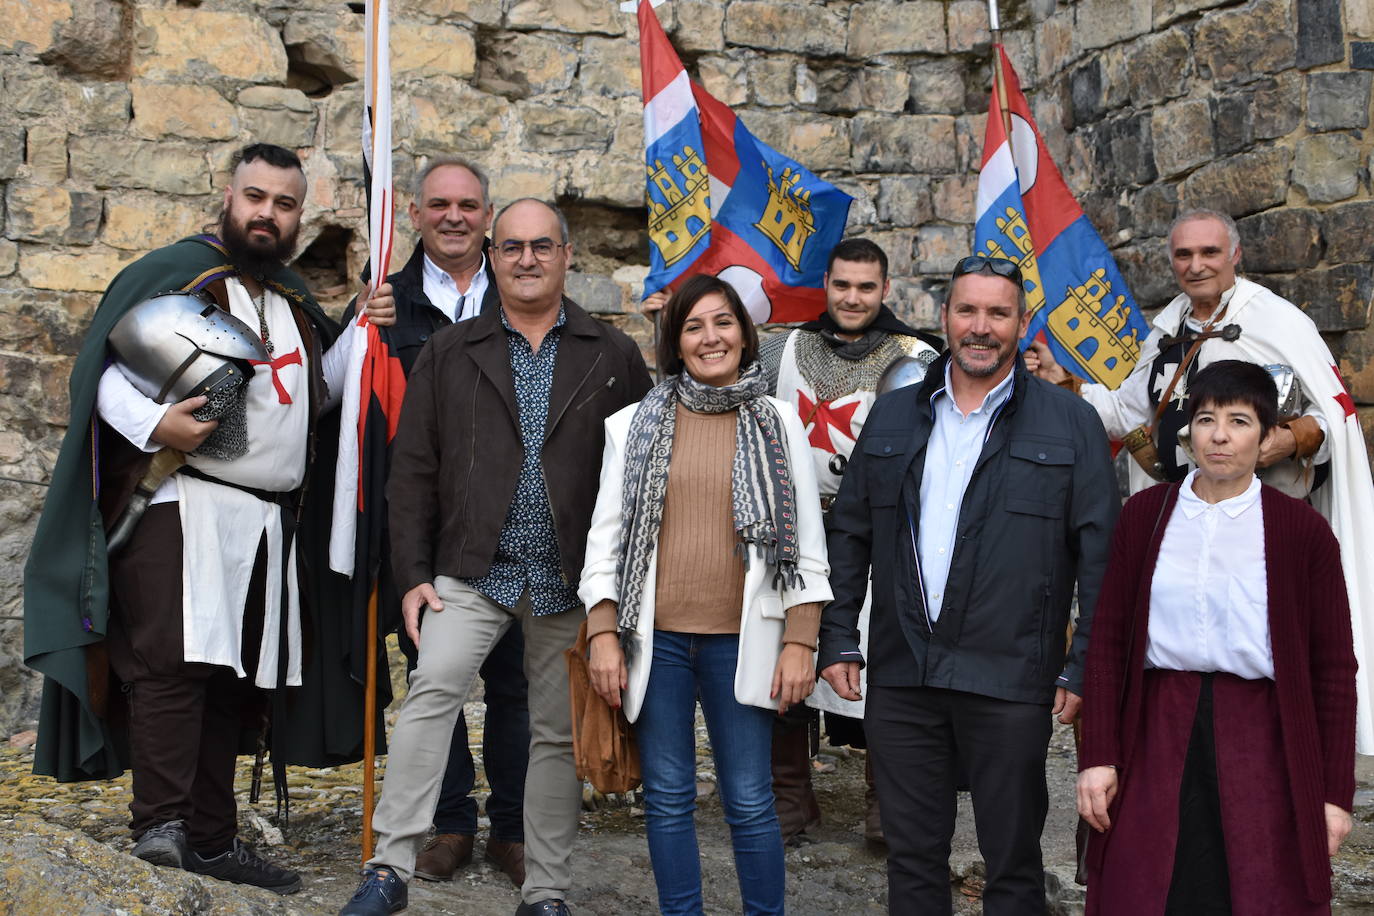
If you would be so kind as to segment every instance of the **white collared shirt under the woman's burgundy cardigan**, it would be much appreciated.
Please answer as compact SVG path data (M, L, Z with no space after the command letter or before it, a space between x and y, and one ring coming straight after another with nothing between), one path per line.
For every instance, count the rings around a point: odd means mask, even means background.
M1260 479L1205 503L1179 485L1150 588L1149 667L1274 678Z

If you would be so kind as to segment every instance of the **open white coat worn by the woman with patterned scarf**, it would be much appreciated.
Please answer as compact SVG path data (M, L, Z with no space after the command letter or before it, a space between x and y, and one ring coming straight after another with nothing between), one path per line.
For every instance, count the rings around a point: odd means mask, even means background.
M782 654L785 611L808 602L829 602L830 564L826 562L826 531L820 519L820 494L811 461L811 445L801 428L797 411L778 398L768 398L782 417L787 437L787 461L797 499L797 571L804 585L779 592L772 582L778 569L764 560L763 551L750 547L745 573L745 599L739 608L739 663L735 667L735 699L749 706L776 709L769 696L772 674ZM616 563L620 559L621 493L625 481L625 439L638 404L606 419L606 450L602 456L600 492L587 536L587 564L577 595L588 608L599 602L620 602L616 589ZM622 692L625 717L633 722L644 703L649 669L654 656L654 595L658 571L658 547L649 560L639 626L631 636L629 687Z

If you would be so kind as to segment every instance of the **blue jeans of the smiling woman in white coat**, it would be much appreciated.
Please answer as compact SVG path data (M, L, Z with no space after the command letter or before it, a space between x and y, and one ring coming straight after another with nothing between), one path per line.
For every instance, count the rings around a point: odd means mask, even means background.
M635 722L644 780L644 829L671 916L702 912L697 849L697 736L701 700L720 802L747 916L783 912L782 834L774 812L769 710L735 700L739 637L654 632L649 688Z

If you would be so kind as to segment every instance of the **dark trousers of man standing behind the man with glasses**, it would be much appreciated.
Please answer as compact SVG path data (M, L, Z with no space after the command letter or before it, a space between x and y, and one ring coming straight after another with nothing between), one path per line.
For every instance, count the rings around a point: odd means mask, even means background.
M415 667L415 644L401 633L408 667ZM525 681L525 637L511 626L496 641L478 673L486 702L482 722L482 769L492 794L486 798L491 839L525 842L525 770L529 768L529 689ZM448 748L448 765L434 809L434 832L477 834L477 766L467 746L467 717L459 711Z

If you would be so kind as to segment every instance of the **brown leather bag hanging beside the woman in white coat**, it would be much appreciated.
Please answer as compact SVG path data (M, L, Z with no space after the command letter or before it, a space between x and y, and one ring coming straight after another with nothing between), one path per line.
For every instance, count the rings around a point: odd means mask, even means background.
M587 621L567 656L567 696L573 706L573 759L577 776L596 791L629 792L639 786L639 748L621 709L592 689L587 670Z

